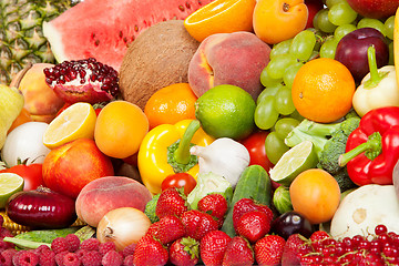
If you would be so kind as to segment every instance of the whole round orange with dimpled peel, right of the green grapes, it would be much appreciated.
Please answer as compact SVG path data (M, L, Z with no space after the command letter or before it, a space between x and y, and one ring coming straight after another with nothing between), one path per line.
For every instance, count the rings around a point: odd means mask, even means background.
M330 123L349 112L355 89L354 76L342 63L318 58L299 69L294 79L291 95L301 116Z

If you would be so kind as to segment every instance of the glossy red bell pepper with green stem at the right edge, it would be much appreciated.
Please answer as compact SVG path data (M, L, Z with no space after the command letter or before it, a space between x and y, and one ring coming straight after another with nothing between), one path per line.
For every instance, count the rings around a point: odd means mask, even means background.
M348 137L346 153L339 158L347 165L355 184L392 184L392 171L399 160L399 108L375 109L366 113L359 127Z

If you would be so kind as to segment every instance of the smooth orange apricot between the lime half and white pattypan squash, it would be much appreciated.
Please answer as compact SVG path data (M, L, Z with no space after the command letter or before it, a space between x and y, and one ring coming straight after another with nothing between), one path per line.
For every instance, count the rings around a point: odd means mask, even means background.
M328 172L310 168L301 172L289 186L294 211L313 224L332 218L340 201L338 182Z

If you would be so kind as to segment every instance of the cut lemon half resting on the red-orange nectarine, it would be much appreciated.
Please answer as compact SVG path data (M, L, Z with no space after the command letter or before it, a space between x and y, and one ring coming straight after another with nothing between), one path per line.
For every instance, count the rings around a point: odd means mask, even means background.
M61 146L78 139L94 139L96 114L86 102L78 102L51 121L43 134L43 144L49 149Z

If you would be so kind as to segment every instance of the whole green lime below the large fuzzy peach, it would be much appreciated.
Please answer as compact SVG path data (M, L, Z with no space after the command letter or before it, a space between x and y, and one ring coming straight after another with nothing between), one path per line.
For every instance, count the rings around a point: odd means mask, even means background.
M242 140L255 129L256 103L248 92L235 85L216 85L195 102L195 117L213 137Z

